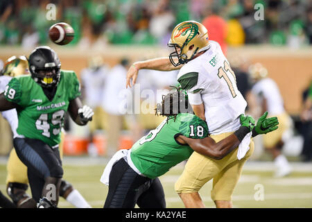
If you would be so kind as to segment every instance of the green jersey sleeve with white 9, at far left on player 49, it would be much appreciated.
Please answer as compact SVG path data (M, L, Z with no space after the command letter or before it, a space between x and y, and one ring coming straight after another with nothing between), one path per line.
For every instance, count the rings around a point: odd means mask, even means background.
M10 102L17 103L20 105L21 103L21 83L17 78L12 78L8 85L6 85L4 96Z

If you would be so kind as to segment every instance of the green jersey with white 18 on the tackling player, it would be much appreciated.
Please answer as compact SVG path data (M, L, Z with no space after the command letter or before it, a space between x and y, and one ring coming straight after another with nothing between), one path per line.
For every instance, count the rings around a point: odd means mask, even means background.
M179 135L193 139L208 136L207 123L194 114L180 113L176 119L166 119L142 137L131 148L131 160L148 178L162 176L171 167L187 160L193 153L188 145L179 144Z

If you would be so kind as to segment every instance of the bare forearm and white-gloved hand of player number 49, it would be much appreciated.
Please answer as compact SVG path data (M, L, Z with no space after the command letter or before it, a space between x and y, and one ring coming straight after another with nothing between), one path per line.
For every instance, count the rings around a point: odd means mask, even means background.
M71 119L79 126L85 126L88 121L92 121L92 116L94 115L93 110L89 106L83 105L79 97L69 101L68 112Z

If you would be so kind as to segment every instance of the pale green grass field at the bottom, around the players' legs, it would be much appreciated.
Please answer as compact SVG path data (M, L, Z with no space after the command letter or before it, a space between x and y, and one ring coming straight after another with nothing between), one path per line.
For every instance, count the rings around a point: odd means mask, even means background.
M86 164L84 159L71 157L64 160L64 179L78 189L92 207L103 207L107 187L99 180L105 164ZM86 158L87 159L87 158ZM83 165L79 164L81 162ZM90 162L90 161L89 161ZM101 162L101 159L97 159ZM104 161L103 161L104 162ZM285 178L272 177L272 163L248 162L233 195L234 207L312 207L312 164L296 164L293 173ZM166 194L167 207L184 207L173 189L175 181L182 173L184 165L180 164L160 177ZM0 189L6 193L6 164L0 164ZM212 182L200 190L206 207L214 207L210 199ZM263 188L263 200L255 200L255 186ZM256 187L257 187L256 186ZM29 191L28 191L29 193ZM256 195L257 196L257 195ZM73 207L60 198L59 207Z

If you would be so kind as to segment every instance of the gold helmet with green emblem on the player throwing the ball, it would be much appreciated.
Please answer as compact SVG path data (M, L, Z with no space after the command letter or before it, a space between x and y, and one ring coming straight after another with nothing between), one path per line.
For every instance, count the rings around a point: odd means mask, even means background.
M168 46L175 48L175 51L169 55L172 65L176 67L189 62L200 51L209 49L207 28L195 21L181 22L173 28ZM177 58L178 62L173 58Z

